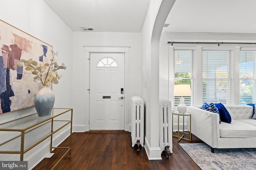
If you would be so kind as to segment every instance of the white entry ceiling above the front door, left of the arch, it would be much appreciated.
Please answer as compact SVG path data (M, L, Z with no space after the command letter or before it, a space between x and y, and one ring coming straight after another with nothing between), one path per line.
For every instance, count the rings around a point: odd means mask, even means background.
M140 32L150 0L44 0L73 30Z

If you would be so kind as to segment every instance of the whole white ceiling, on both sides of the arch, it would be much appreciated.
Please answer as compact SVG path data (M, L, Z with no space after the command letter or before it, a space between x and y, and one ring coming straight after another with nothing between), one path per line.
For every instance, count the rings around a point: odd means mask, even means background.
M150 0L44 0L73 30L140 32ZM256 33L256 0L176 0L169 32Z

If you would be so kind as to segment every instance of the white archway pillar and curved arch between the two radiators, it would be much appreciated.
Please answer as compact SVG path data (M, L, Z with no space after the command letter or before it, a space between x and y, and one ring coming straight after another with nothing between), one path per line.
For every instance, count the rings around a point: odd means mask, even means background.
M142 27L142 99L146 106L145 149L150 160L161 159L159 148L159 43L175 0L151 0Z

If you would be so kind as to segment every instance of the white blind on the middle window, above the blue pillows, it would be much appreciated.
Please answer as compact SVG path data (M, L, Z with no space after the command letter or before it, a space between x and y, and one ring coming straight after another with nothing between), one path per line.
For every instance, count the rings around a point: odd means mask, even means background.
M233 50L202 50L202 102L234 104Z

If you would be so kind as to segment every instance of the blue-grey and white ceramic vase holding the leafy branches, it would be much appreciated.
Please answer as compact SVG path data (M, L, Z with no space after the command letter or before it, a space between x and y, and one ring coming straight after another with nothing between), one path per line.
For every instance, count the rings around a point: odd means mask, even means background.
M43 86L36 94L34 102L39 117L50 115L55 102L51 87Z

